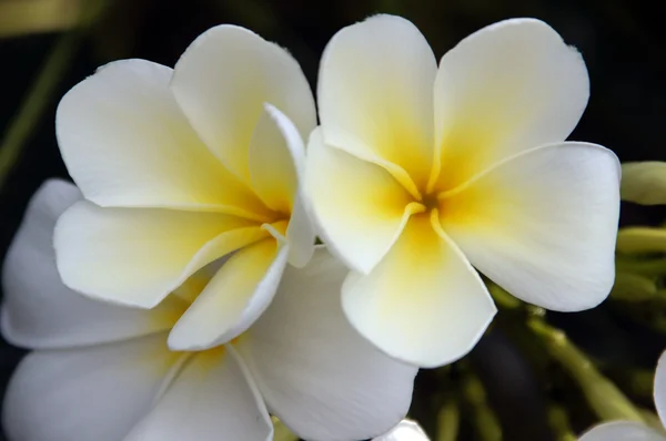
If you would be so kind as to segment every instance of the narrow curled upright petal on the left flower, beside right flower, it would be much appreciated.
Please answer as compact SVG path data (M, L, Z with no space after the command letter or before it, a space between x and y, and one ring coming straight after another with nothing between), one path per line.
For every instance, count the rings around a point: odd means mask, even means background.
M264 203L291 215L286 230L290 263L303 267L314 253L314 226L303 208L302 182L305 146L294 124L282 112L264 104L250 143L252 188Z

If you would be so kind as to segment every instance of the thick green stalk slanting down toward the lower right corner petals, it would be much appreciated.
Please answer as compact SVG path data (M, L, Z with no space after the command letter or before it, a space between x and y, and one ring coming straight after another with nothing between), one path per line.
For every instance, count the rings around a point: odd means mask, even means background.
M627 420L645 423L640 411L592 361L558 329L533 317L527 326L546 346L548 353L578 383L589 407L602 420Z

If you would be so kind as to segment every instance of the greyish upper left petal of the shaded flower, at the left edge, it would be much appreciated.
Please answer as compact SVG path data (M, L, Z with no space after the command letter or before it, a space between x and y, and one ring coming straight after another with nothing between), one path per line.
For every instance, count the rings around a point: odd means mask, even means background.
M2 268L2 336L28 348L62 348L138 337L171 328L178 300L145 311L94 301L68 289L56 269L56 219L81 199L64 181L48 181L32 196Z

